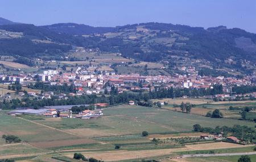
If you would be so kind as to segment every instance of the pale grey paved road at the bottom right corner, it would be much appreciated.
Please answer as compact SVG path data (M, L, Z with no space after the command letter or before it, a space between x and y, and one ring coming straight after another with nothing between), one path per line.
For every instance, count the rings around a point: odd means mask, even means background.
M191 154L191 155L178 156L177 158L184 158L184 157L209 157L209 156L232 156L232 155L256 155L256 151L254 151L254 152L240 152L240 153Z

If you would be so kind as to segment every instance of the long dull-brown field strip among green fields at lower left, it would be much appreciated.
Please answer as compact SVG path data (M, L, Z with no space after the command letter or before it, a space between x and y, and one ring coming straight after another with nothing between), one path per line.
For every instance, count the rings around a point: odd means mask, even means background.
M93 139L71 139L71 140L54 140L48 142L31 142L32 146L38 148L51 148L51 147L60 147L60 146L72 146L76 144L87 144L87 143L97 143Z

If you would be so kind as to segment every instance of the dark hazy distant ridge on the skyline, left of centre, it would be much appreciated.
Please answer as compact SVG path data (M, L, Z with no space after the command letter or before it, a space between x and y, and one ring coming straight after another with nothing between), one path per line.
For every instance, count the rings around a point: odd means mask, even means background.
M88 35L88 34L102 34L106 32L114 32L114 27L92 27L85 24L76 23L59 23L52 24L49 26L43 26L51 31L71 34L71 35Z

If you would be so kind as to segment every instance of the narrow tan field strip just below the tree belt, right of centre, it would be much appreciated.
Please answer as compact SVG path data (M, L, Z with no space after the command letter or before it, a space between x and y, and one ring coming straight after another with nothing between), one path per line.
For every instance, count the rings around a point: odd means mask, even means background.
M193 99L193 98L163 98L163 99L152 99L152 102L158 102L158 101L163 101L163 102L168 102L169 104L177 104L180 105L181 102L189 102L191 104L204 104L204 103L213 103L212 100L210 99Z

